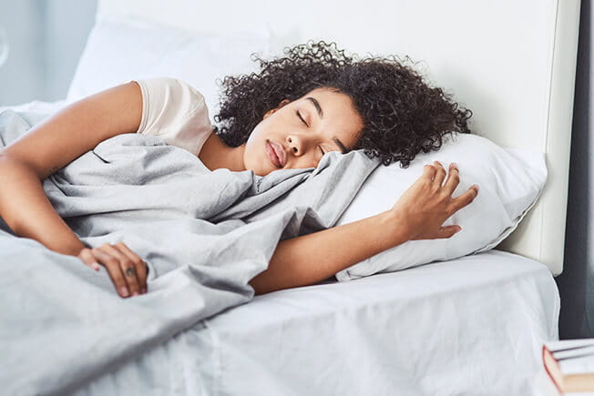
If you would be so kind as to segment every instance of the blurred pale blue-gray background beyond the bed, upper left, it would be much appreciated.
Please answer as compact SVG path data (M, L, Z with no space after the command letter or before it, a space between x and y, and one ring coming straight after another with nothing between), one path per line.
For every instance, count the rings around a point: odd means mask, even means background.
M0 0L0 47L9 48L0 107L66 98L96 9L97 0Z

